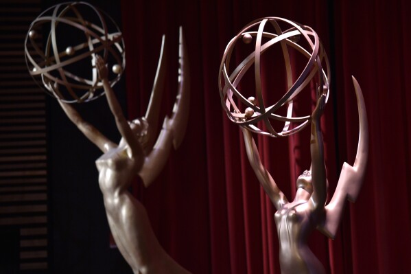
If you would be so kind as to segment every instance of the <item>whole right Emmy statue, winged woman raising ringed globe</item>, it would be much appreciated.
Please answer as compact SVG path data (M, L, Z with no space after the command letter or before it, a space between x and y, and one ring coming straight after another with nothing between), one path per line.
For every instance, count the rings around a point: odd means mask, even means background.
M274 22L274 27L277 30L277 34L266 34L262 31L263 23L262 22ZM228 44L226 52L224 53L222 67L220 67L220 82L224 78L224 86L220 85L220 94L222 98L223 108L226 110L228 117L239 124L242 128L242 133L244 135L244 142L246 145L246 152L250 165L252 166L257 179L261 183L261 186L265 190L266 194L269 196L273 205L276 207L277 212L274 215L277 233L279 236L279 262L281 266L282 274L322 274L325 273L325 269L316 258L314 253L309 249L307 240L309 235L314 231L314 229L320 230L322 233L325 233L329 238L334 238L336 236L336 231L342 217L342 210L344 209L345 200L355 201L357 198L358 192L360 191L362 181L364 179L366 161L368 157L368 122L366 117L366 108L364 104L364 98L360 85L357 83L355 78L353 78L353 84L355 87L355 93L357 94L357 104L358 104L358 113L360 120L360 137L358 141L357 148L357 157L353 166L348 163L344 163L342 167L342 172L340 179L338 181L338 186L336 192L331 199L331 202L326 205L327 202L327 176L326 168L324 162L324 146L322 142L322 132L320 128L320 117L325 109L325 104L327 102L329 94L329 77L326 75L325 71L320 67L320 60L326 58L325 53L322 52L321 47L319 46L318 36L315 32L306 26L301 26L297 23L290 23L293 25L290 29L285 32L281 32L276 26L276 21L287 21L285 19L278 19L275 17L269 17L266 19L259 19L250 23L250 25L260 24L259 32L251 34L256 36L257 40L261 36L266 36L271 38L271 41L268 41L264 45L257 45L255 52L250 54L246 60L240 64L237 69L228 76L226 72L228 70L226 66L226 59L230 58L231 54L231 45L235 43L236 39L242 37L248 26L244 28L239 34L231 40ZM298 30L298 32L296 31ZM249 34L250 32L246 32ZM280 104L285 102L291 103L292 98L298 91L301 91L301 85L307 84L303 79L310 79L310 77L305 78L309 73L309 70L305 69L304 76L301 76L296 80L294 84L290 84L289 91L284 95L284 97L274 106L265 108L262 103L261 96L261 87L259 87L258 82L260 81L259 76L259 53L257 51L263 51L270 45L274 43L273 41L283 40L282 43L287 45L295 46L298 39L293 39L291 37L299 34L299 36L314 37L315 43L313 51L314 54L308 54L306 52L307 58L309 58L309 65L311 64L313 71L320 73L320 81L318 85L318 97L316 108L314 109L312 115L307 117L292 118L290 113L287 114L287 117L274 117L271 110L275 109ZM259 38L258 38L259 37ZM309 40L307 40L309 42ZM257 41L257 44L259 42ZM321 52L318 54L318 52ZM287 56L287 52L283 50L283 54ZM259 106L255 103L255 98L245 99L239 91L236 90L239 79L242 78L243 71L248 69L247 66L250 65L250 62L253 62L255 59L256 64L256 78L257 78L257 102ZM287 57L285 57L287 60ZM327 62L326 62L327 63ZM316 64L316 65L315 65ZM328 65L327 65L328 66ZM258 69L257 69L258 67ZM290 66L287 66L287 76L290 77ZM311 72L312 74L313 72ZM221 78L222 77L222 78ZM324 87L322 81L324 81ZM288 79L290 80L290 78ZM289 82L290 83L290 82ZM237 105L233 100L233 95L237 96L239 100L247 107L245 113L240 111ZM250 116L250 109L255 111L255 114ZM290 109L290 107L289 107ZM232 111L233 110L233 111ZM269 133L265 133L259 128L257 128L253 123L257 119L262 119L267 127L268 119L281 119L285 121L284 129L281 133L270 130ZM290 122L303 122L299 126L289 130L287 128L287 123ZM259 151L253 139L252 131L256 133L261 133L264 135L270 135L273 137L286 136L293 133L296 133L298 130L301 130L305 124L311 122L311 139L310 139L310 151L312 164L309 170L305 170L301 176L298 176L296 181L297 192L294 198L294 201L289 202L283 192L277 186L277 183L272 179L271 174L261 163L259 156Z

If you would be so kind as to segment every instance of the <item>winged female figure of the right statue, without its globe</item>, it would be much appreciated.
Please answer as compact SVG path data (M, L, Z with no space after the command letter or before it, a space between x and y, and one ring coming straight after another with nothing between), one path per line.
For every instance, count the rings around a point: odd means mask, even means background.
M327 176L320 117L326 95L319 96L311 117L310 151L312 164L298 176L294 201L288 201L272 176L261 163L253 135L242 128L248 160L277 212L274 215L279 236L279 262L282 274L322 274L325 269L309 249L307 240L314 229L329 238L336 236L345 200L355 201L364 179L368 157L368 122L360 85L353 78L360 120L357 157L353 166L344 163L333 198L327 202Z

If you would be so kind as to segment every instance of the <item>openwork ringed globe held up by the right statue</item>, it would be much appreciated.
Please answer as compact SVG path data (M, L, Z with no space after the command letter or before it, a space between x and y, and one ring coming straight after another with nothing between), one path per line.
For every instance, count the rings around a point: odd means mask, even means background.
M264 30L268 24L274 27L276 33L273 34ZM254 29L257 29L257 31ZM296 39L296 37L298 37L298 39ZM242 40L244 43L251 43L253 38L255 38L254 51L239 65L235 64L234 69L230 69L231 56L237 41ZM278 43L281 46L281 51L284 56L288 90L278 102L267 106L262 95L261 56L270 49L270 47ZM291 68L290 47L307 59L307 65L299 76L295 75L295 72L293 72ZM255 73L255 98L257 98L258 104L253 104L247 100L241 91L237 89L239 82L246 72L252 68L253 64ZM218 78L221 104L228 118L231 119L232 122L244 126L254 133L268 135L270 137L292 135L307 126L311 115L307 114L305 116L294 117L293 99L298 93L303 91L310 82L315 82L317 87L319 87L318 96L324 93L324 87L327 88L327 101L329 81L328 58L316 32L314 32L311 27L279 17L257 19L240 30L237 36L231 39L224 51ZM244 106L244 109L247 107L253 109L255 115L253 115L251 119L246 119L242 106ZM287 115L276 114L281 107L287 109ZM280 132L277 132L277 130L273 128L272 120L284 122L283 129ZM260 121L266 126L267 131L257 127L257 123Z

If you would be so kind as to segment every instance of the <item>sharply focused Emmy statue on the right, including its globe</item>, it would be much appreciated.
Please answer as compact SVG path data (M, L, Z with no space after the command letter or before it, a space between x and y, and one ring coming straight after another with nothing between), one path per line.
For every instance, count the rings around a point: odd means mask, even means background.
M235 62L237 56L233 52L242 43L249 45L250 53L244 60ZM263 90L261 75L272 71L264 71L261 62L263 54L267 55L270 48L281 49L282 58L270 62L285 68L283 75L287 89L279 95L277 102L267 104L267 93L281 89ZM294 68L296 54L306 60L300 73L296 73ZM253 84L242 91L242 79L247 75L253 78ZM329 81L329 62L316 32L311 27L279 17L265 17L246 25L226 46L220 65L218 84L222 108L228 119L241 127L250 165L277 209L274 219L283 274L325 273L324 267L309 249L307 239L314 229L329 238L336 236L344 203L347 199L355 201L364 179L368 157L368 122L360 85L353 78L360 120L357 157L353 166L344 163L336 192L327 204L327 174L320 117L329 97ZM254 92L251 96L250 86ZM312 113L296 115L294 100L301 95L299 93L304 92L314 95L316 106ZM303 103L312 104L310 100ZM273 122L277 123L277 128ZM308 124L311 124L311 137L307 140L311 166L298 176L296 196L294 201L288 201L280 190L281 183L274 181L261 162L252 133L287 137L298 133Z

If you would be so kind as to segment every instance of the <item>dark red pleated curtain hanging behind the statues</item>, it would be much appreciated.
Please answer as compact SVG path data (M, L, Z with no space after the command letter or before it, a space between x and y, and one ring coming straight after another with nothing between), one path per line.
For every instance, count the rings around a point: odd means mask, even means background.
M329 195L344 161L353 164L358 122L351 75L368 112L366 180L346 207L336 240L314 233L327 273L411 271L410 3L402 1L121 1L130 119L145 113L162 34L167 44L163 113L176 95L178 27L187 41L191 104L182 146L139 199L165 250L193 273L280 273L274 207L250 168L239 128L220 106L218 69L228 41L250 21L279 16L316 30L331 60L322 118ZM270 81L270 71L265 71ZM309 167L309 130L255 136L266 168L289 198ZM347 203L348 204L348 203Z

